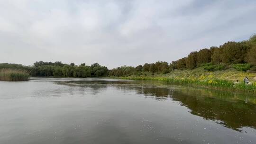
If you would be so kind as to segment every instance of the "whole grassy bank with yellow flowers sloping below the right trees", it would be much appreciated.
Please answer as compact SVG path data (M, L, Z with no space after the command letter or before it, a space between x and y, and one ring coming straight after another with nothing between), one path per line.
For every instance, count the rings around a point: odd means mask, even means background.
M243 83L245 76L249 77L251 84ZM218 89L256 92L256 73L240 72L234 69L209 72L199 67L194 70L177 70L167 74L141 73L121 79L156 80L175 84L196 84Z

